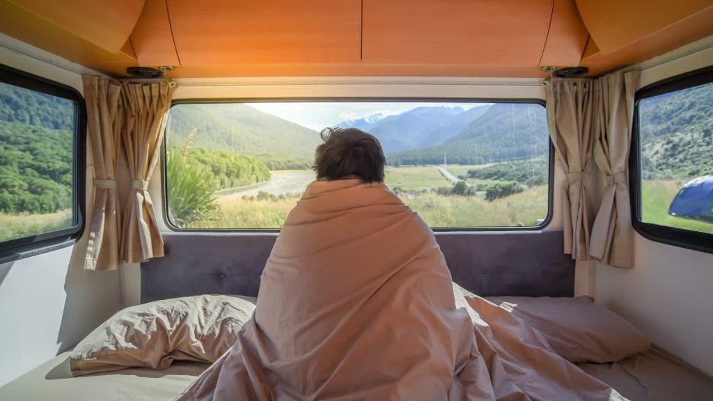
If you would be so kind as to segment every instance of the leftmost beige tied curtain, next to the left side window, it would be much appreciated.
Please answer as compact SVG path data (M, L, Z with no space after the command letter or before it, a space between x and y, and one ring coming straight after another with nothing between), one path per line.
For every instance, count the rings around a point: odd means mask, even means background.
M84 268L116 270L119 264L120 208L116 162L123 122L121 86L98 76L83 76L87 134L94 165L94 208Z

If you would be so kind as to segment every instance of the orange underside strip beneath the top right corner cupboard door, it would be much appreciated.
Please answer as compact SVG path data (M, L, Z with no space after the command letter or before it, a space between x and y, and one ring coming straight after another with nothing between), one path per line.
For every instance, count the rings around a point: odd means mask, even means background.
M711 35L713 35L713 7L609 54L599 51L598 41L596 44L590 41L580 65L588 66L590 75L597 76L660 56Z

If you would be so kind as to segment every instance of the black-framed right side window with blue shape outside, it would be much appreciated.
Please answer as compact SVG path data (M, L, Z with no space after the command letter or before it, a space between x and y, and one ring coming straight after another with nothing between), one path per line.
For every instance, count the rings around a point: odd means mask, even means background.
M713 251L713 71L643 88L636 114L637 228Z

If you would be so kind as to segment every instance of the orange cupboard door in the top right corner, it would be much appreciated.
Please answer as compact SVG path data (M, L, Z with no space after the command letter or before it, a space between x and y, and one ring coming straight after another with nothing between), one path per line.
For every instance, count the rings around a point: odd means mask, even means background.
M611 53L700 11L711 0L577 0L585 26L597 46ZM713 23L713 21L712 21Z

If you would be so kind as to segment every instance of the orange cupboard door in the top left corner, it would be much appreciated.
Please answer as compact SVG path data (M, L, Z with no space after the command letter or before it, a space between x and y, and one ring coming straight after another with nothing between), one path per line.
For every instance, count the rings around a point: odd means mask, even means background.
M31 14L110 53L118 53L141 14L144 0L11 0Z

